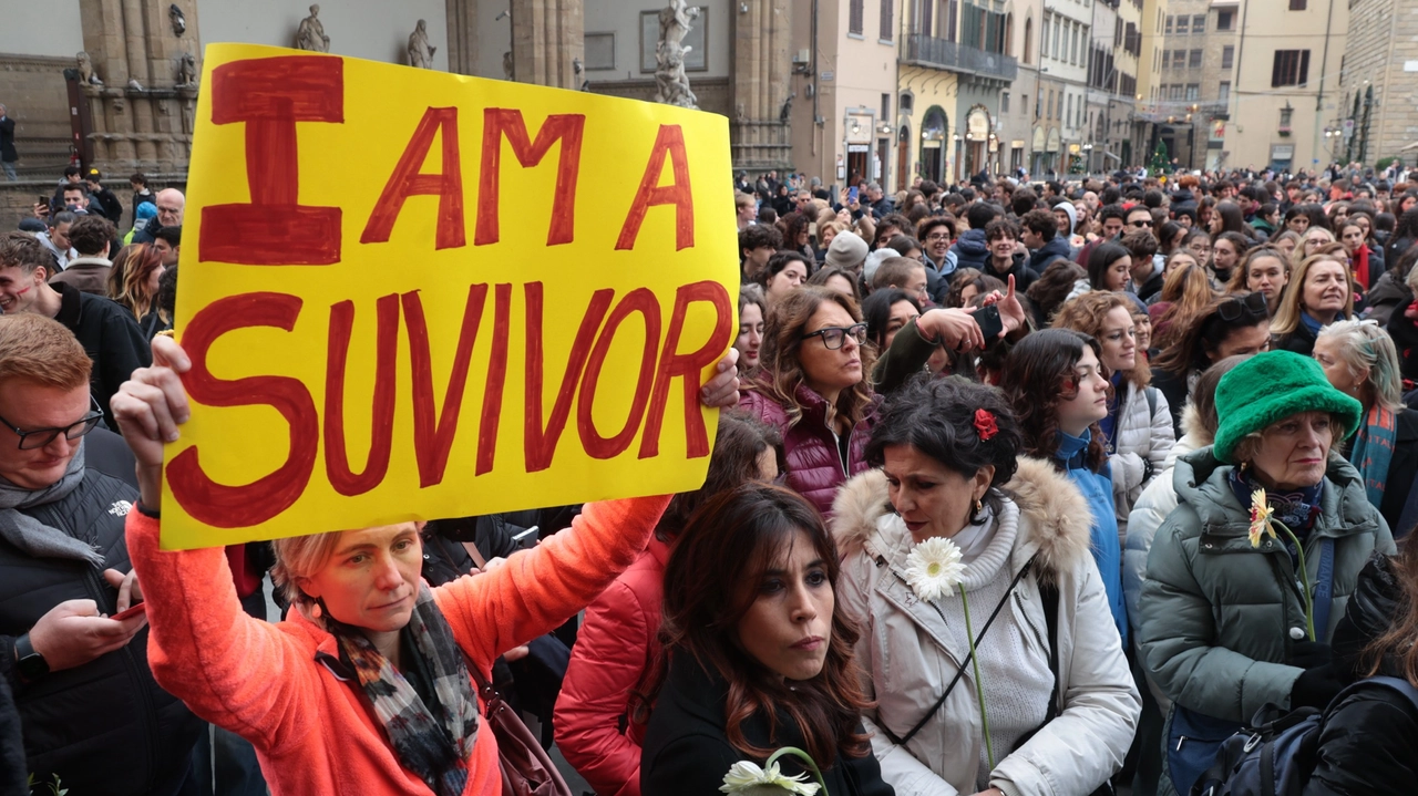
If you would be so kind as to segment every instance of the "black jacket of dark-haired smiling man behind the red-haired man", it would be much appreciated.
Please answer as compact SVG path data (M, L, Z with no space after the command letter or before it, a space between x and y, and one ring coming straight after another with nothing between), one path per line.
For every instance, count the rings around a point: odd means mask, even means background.
M78 288L62 282L52 288L62 296L60 314L54 320L68 327L84 346L84 353L94 360L89 391L104 409L108 428L116 431L118 421L113 419L108 401L135 370L153 364L147 339L133 316L116 302L81 293Z

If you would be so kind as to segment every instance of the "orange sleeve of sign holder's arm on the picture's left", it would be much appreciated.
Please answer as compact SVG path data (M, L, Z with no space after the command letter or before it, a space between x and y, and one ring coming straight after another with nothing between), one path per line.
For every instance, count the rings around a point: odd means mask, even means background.
M301 700L319 694L311 656L241 609L223 548L162 551L159 533L157 520L129 511L128 552L147 602L157 684L258 748L308 731L313 722Z

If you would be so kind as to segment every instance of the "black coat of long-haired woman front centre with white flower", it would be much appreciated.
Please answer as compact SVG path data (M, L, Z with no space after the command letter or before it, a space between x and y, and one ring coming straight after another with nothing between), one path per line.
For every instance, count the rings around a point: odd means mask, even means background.
M733 763L743 759L760 766L764 763L764 759L749 758L729 744L723 714L727 694L727 683L708 674L692 657L681 654L671 663L641 749L640 789L644 796L722 796L719 786ZM760 748L807 748L797 724L787 715L778 718L777 737L770 737L767 717L761 712L743 724L743 734ZM803 773L805 769L795 761L793 756L780 758L783 773ZM822 771L822 778L832 796L895 793L882 780L881 766L871 754L865 758L839 756L837 765ZM808 780L813 780L811 773Z

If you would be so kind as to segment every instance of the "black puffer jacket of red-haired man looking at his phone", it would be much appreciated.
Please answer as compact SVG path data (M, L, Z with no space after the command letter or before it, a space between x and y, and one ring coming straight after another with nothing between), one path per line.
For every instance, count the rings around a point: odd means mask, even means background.
M105 568L126 572L123 518L138 500L133 459L123 440L104 429L84 445L84 483L26 514L94 544ZM99 568L33 558L0 541L0 654L13 657L16 636L69 599L92 599L101 612L113 613L118 592ZM11 667L13 660L0 666ZM37 782L57 773L75 795L167 796L186 779L201 722L153 681L146 629L118 652L33 684L11 680L10 687Z

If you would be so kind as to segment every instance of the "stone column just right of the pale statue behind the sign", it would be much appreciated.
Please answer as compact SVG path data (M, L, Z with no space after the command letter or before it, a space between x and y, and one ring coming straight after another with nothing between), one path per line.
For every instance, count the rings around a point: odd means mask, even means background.
M788 0L729 4L733 18L730 142L736 170L786 169L791 160L790 127L780 122L788 98L791 8ZM807 98L794 98L798 101Z

